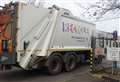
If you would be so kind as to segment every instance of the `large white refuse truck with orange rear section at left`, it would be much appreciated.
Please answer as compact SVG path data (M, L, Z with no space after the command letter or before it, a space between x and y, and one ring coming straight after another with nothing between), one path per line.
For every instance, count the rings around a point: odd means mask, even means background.
M88 62L95 24L64 8L10 3L0 10L0 65L24 70L72 71Z

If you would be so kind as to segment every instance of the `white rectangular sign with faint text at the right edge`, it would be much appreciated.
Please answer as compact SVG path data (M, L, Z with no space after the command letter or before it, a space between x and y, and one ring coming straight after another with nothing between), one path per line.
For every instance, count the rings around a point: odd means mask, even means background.
M107 48L107 60L120 61L120 48Z

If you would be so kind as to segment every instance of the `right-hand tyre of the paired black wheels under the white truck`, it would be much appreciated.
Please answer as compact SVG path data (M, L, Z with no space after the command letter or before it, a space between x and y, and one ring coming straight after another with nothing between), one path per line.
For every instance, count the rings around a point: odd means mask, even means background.
M77 65L76 56L73 53L67 53L64 56L65 59L65 71L69 72L75 69Z

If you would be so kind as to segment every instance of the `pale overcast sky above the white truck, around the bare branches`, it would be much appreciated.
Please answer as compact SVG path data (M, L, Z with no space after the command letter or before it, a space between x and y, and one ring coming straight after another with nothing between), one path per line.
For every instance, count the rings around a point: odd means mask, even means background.
M14 1L20 1L20 0L14 0ZM21 0L21 1L28 1L28 0ZM32 0L31 0L32 1ZM34 1L34 0L33 0ZM78 6L76 3L81 4L81 6L88 6L90 4L94 4L98 0L36 0L36 2L43 2L45 7L50 7L53 4L69 9L73 15L79 17L83 20L89 20L88 18L85 18L82 16L83 12L85 11L82 7ZM4 5L4 3L8 3L10 0L0 0L0 5ZM111 16L112 17L112 16ZM100 31L107 31L107 32L113 32L114 30L118 30L120 35L120 19L109 19L101 20L101 21L92 21L96 24L96 29Z

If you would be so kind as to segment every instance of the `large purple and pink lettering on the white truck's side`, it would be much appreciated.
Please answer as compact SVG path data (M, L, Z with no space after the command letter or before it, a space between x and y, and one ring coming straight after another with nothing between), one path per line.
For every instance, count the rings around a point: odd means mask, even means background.
M62 22L63 32L71 32L77 34L89 34L89 29L82 25Z

